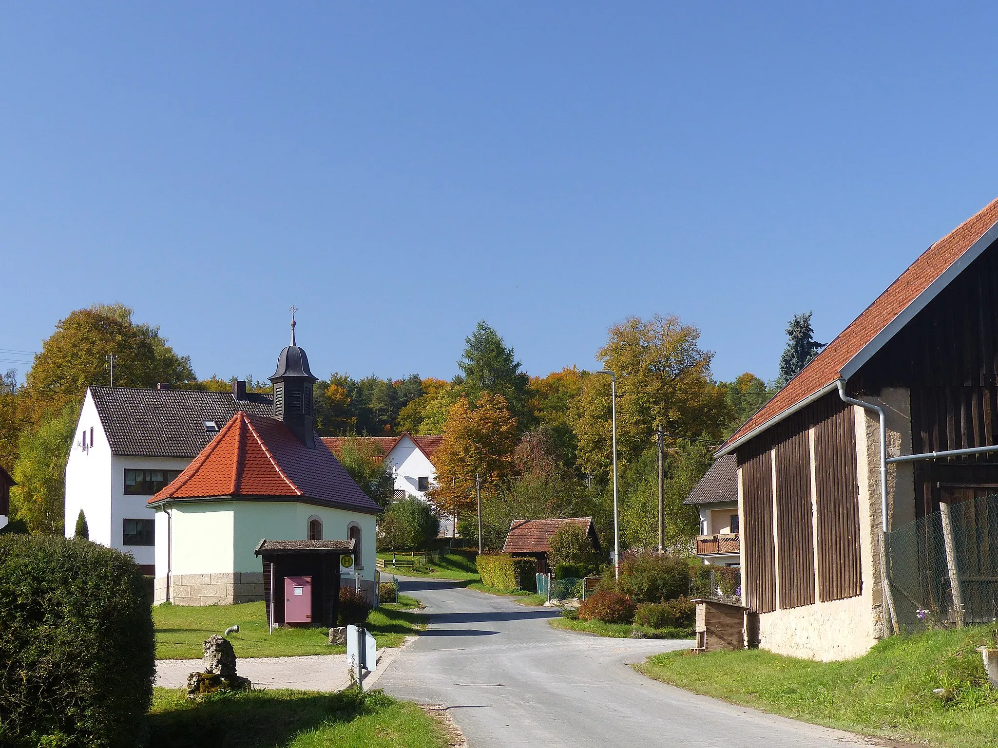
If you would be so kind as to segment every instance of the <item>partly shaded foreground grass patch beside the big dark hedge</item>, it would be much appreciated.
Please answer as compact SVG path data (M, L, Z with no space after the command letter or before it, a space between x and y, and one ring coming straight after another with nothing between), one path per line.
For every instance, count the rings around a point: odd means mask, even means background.
M156 688L150 748L445 748L440 723L381 691L249 691L189 701Z

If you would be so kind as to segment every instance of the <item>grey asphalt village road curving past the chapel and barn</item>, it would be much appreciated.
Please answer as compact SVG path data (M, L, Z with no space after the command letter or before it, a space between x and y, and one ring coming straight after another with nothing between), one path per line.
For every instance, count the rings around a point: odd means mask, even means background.
M442 704L470 748L883 746L668 686L629 667L688 641L611 639L548 625L550 608L407 579L430 624L378 687ZM723 678L724 673L718 673Z

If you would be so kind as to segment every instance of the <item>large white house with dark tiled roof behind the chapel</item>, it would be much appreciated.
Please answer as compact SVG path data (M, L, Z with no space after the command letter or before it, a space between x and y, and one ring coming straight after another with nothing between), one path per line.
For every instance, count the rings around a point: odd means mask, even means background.
M83 510L90 540L130 553L155 569L156 513L164 489L238 411L270 415L265 395L127 387L89 387L66 464L66 536Z

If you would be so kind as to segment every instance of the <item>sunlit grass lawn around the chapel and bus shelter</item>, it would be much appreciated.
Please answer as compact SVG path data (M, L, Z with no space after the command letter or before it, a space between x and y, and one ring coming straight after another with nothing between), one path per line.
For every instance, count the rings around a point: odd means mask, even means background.
M367 628L378 647L399 646L406 636L423 627L419 613L406 612L419 606L419 600L401 594L397 603L371 610ZM203 655L203 642L213 633L222 633L239 624L239 633L230 634L237 657L287 657L297 654L338 654L341 646L329 646L327 628L275 628L266 631L262 602L240 605L157 605L157 659L196 659Z

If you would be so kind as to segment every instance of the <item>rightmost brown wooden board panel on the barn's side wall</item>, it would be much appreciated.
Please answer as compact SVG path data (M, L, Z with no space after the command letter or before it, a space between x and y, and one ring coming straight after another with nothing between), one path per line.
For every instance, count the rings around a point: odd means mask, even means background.
M814 424L818 599L840 600L862 591L859 565L859 483L851 408L822 401Z

